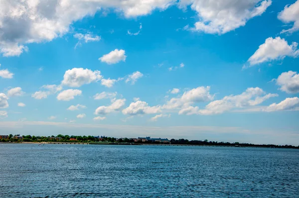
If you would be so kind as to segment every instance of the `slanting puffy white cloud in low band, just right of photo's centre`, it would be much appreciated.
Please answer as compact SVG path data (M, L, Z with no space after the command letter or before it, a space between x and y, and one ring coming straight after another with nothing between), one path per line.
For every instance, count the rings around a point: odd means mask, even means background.
M189 106L195 102L210 101L214 98L210 94L210 87L198 87L190 91L184 92L181 97L172 98L163 105L165 109L175 109Z

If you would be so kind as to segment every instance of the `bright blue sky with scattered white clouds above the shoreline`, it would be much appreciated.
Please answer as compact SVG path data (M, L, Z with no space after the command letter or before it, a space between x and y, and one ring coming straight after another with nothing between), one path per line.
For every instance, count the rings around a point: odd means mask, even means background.
M299 145L299 0L1 0L0 134Z

